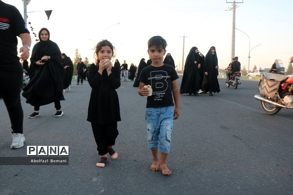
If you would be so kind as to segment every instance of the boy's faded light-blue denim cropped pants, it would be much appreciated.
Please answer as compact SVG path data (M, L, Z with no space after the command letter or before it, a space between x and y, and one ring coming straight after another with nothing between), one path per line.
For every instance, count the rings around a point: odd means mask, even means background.
M173 106L146 108L146 137L148 149L160 149L168 154L171 146L173 129Z

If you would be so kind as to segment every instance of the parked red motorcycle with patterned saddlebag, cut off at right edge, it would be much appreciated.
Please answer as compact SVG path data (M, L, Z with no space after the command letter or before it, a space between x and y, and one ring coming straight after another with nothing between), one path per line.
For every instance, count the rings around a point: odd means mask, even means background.
M258 93L254 98L268 115L277 114L282 108L293 108L293 75L267 73L259 81Z

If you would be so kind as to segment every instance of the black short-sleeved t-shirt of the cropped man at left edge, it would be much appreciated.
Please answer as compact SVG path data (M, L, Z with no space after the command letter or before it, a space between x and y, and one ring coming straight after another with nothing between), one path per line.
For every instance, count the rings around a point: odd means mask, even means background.
M0 70L21 72L16 36L29 33L19 10L0 1Z

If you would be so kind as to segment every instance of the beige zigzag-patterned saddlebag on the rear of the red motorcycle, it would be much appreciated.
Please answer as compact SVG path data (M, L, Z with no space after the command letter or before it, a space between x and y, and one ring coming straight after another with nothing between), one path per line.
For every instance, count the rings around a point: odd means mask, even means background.
M262 76L258 84L258 93L276 99L280 83L285 78L286 76L273 73L268 73L266 76Z

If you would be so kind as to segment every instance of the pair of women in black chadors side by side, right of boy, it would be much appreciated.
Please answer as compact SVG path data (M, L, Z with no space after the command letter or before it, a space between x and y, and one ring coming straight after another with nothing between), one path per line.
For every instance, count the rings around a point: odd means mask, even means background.
M184 73L180 87L180 94L198 96L199 93L220 92L218 82L218 58L214 46L210 47L204 57L197 47L192 47L185 61Z

